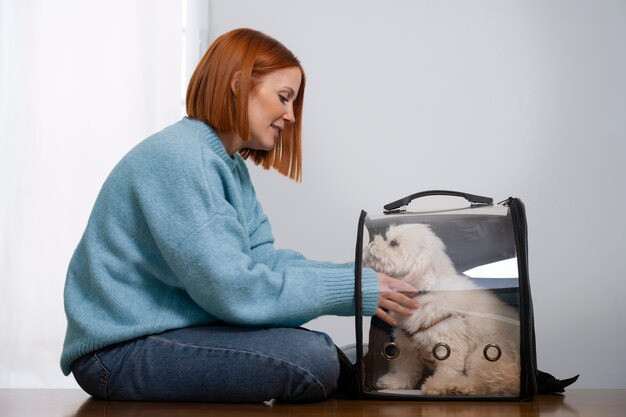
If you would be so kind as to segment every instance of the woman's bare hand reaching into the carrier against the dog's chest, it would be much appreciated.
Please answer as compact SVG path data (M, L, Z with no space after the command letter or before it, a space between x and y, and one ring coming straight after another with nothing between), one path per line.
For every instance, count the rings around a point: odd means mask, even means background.
M380 296L378 297L378 309L376 316L384 322L396 326L398 322L389 314L395 312L402 316L409 317L413 314L413 310L419 307L419 304L411 295L416 295L418 290L408 282L391 278L383 273L378 273L378 282L380 285ZM409 296L405 295L406 293Z

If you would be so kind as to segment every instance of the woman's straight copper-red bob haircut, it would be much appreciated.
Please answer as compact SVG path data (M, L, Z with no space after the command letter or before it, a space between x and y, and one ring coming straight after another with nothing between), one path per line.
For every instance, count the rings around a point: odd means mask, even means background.
M300 90L293 104L294 123L285 125L274 149L242 149L240 155L265 169L275 168L281 174L300 182L302 179L302 105L304 70L300 61L277 40L252 29L235 29L218 37L196 67L187 88L187 114L219 132L237 133L250 139L248 100L261 79L283 68L297 67L302 73ZM231 81L239 72L237 91Z

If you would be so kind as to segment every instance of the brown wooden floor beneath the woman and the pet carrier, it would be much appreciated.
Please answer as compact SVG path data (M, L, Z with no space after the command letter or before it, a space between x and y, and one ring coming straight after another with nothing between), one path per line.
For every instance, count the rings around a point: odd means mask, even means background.
M572 389L566 395L540 395L525 403L355 401L331 399L314 404L130 403L90 399L79 390L0 390L1 417L71 416L385 416L507 417L626 416L626 390Z

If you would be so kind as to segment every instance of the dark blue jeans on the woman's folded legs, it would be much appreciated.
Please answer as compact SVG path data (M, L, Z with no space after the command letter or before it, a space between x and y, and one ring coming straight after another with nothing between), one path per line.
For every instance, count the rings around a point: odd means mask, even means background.
M323 333L203 326L92 352L72 364L72 373L97 399L305 402L336 390L339 360Z

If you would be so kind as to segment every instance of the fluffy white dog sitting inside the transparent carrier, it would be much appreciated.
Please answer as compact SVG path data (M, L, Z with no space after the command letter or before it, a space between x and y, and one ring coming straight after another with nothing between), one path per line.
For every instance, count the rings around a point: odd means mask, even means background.
M443 241L424 224L392 225L386 239L374 236L366 246L364 264L411 283L420 292L420 307L411 317L393 314L393 335L400 356L377 381L379 389L421 388L427 395L517 395L520 385L519 319L487 290L459 275ZM436 360L437 343L450 356ZM484 357L495 343L502 356ZM493 355L491 348L489 354ZM493 357L493 356L491 356Z

